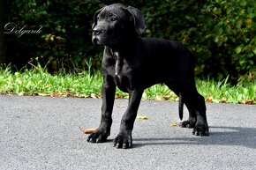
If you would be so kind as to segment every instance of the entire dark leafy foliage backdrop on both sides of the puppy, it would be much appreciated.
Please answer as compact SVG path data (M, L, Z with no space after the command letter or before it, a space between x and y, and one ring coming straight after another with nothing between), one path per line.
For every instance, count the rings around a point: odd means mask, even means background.
M3 3L4 2L4 3ZM104 4L132 5L147 21L145 37L181 41L197 56L196 76L231 82L255 81L256 1L254 0L4 0L3 22L41 34L4 34L4 63L22 68L39 61L50 72L99 69L102 47L94 47L94 11ZM3 16L2 16L3 18ZM1 29L3 31L3 28ZM0 48L0 49L1 49ZM3 60L2 60L3 63Z

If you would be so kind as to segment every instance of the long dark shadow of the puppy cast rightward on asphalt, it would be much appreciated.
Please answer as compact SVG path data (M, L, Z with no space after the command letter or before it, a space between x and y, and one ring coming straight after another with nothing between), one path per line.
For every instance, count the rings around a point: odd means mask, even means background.
M256 149L256 128L210 127L210 129L212 131L209 137L133 138L133 148L146 145L201 144L237 145Z

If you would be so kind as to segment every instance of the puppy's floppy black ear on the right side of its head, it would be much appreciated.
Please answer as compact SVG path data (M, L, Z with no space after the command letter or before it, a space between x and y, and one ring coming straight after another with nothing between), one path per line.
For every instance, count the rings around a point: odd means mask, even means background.
M136 32L141 35L142 33L144 33L147 27L143 14L141 13L141 11L132 6L128 6L127 10L132 14Z

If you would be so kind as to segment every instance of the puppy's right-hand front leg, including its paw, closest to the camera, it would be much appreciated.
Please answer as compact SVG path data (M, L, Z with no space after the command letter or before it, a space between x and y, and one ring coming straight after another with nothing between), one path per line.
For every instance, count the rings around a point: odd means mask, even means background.
M123 115L119 134L113 142L113 145L117 148L126 149L132 147L132 129L143 91L142 88L135 88L133 91L129 92L129 105Z

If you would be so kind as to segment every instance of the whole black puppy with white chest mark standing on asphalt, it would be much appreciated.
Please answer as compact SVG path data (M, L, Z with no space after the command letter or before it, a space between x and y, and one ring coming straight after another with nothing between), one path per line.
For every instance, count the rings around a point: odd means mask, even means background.
M208 135L206 105L197 92L194 80L194 57L177 41L144 39L146 29L141 12L131 6L111 4L94 14L93 43L105 46L102 59L102 121L87 141L100 143L110 135L116 87L129 93L120 131L114 140L117 148L132 147L132 129L144 89L158 83L180 97L189 119L182 127L193 128L193 134Z

